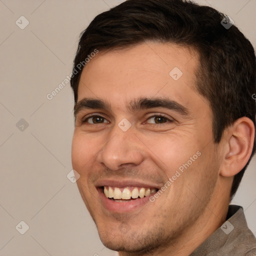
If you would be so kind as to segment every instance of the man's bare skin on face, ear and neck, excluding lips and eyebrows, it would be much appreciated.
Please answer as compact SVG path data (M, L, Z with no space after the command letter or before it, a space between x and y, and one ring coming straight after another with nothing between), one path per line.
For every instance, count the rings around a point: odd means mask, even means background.
M188 255L225 221L232 176L248 160L254 127L244 117L225 130L219 144L213 142L212 112L195 88L197 65L192 49L147 42L99 52L82 71L78 101L103 99L111 109L77 112L72 165L101 241L119 255ZM174 67L183 73L178 80L169 75ZM162 107L129 111L126 105L139 97L174 100L189 115ZM82 122L91 113L103 119ZM157 123L159 114L167 119ZM127 131L118 126L123 118L131 124ZM154 202L129 212L110 212L102 204L99 179L161 187L198 151Z

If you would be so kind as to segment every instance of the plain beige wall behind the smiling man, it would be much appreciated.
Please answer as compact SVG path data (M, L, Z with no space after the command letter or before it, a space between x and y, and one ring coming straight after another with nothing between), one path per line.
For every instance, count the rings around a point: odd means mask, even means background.
M46 95L69 75L79 33L119 2L0 0L0 255L115 255L101 244L66 177L72 169L70 85L51 100ZM255 0L198 2L228 14L255 47ZM29 21L24 29L15 24L21 15ZM244 207L254 234L255 166L253 158L233 200ZM23 235L15 228L21 220L29 226Z

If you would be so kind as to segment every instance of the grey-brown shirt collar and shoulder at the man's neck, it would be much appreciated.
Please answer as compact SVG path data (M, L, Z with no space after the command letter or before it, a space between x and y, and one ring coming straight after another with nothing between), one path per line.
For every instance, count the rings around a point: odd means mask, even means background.
M229 205L227 220L189 256L255 256L256 239L247 226L243 209Z

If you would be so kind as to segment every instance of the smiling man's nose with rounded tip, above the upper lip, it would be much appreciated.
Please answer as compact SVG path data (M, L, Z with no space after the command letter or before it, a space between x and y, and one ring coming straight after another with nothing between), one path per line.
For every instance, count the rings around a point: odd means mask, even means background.
M97 155L97 161L111 170L138 165L143 158L142 143L133 133L132 128L123 131L117 124Z

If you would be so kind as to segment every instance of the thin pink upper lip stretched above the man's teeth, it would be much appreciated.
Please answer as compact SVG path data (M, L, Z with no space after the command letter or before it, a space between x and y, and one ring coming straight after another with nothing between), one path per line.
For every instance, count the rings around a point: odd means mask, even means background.
M134 179L102 179L98 180L95 186L111 186L111 187L145 187L145 188L161 188L161 185L152 182L139 181Z

